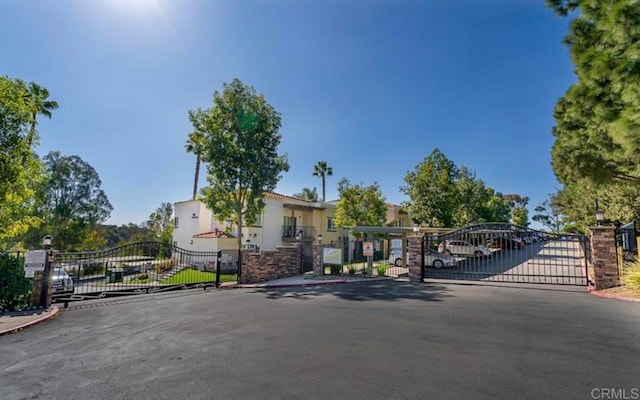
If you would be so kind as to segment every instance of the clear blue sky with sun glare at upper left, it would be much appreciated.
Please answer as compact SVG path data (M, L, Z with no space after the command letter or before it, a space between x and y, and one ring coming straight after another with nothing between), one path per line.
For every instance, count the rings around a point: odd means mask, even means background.
M567 23L543 0L0 0L0 74L58 101L38 152L89 162L109 223L190 198L187 111L236 77L282 114L280 193L320 191L311 172L326 160L328 198L347 177L400 203L437 147L533 210L558 186Z

